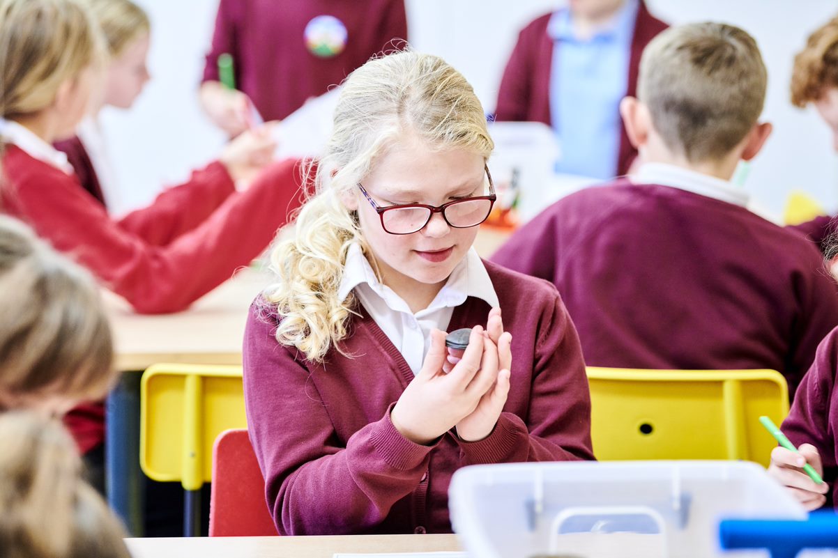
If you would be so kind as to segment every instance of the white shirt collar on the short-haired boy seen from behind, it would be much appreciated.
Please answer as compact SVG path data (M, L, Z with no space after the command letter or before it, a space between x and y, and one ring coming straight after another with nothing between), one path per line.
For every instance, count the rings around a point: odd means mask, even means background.
M703 173L666 163L644 163L630 177L636 184L660 184L747 207L748 194L733 183Z

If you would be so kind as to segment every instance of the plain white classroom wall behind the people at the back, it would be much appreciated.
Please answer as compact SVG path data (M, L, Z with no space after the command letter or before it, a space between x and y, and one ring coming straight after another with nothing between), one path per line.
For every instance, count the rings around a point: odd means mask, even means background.
M347 0L349 1L349 0ZM103 126L122 189L130 203L153 199L163 184L185 178L224 142L201 113L196 87L203 70L218 0L137 0L152 18L149 66L153 81L131 111L108 110ZM518 30L561 0L406 0L411 43L440 54L472 82L487 111ZM764 118L773 137L753 164L747 188L779 214L791 189L803 189L827 209L838 208L838 158L814 109L789 104L794 53L820 23L838 13L838 0L647 0L670 23L723 21L758 40L768 66Z

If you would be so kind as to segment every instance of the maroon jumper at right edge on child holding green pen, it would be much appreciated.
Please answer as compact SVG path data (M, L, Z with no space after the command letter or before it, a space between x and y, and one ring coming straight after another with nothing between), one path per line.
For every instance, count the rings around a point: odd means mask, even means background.
M818 448L824 465L824 480L831 490L826 494L826 506L838 503L838 446L835 429L838 428L838 391L835 391L835 374L838 373L838 328L833 329L818 346L815 362L806 373L789 416L783 422L783 432L794 446L809 443Z

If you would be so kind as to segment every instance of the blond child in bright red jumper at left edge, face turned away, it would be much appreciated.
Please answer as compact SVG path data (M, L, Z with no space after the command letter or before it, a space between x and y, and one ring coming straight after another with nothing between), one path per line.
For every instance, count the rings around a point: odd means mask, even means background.
M0 0L0 210L71 252L138 312L183 310L248 264L286 222L296 166L279 163L242 192L228 180L185 208L155 204L111 219L52 147L84 118L105 62L85 4Z

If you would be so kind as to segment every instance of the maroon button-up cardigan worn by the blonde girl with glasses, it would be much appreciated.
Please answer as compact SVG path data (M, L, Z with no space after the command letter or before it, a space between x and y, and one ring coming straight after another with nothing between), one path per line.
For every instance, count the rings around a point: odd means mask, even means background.
M342 347L353 358L333 348L325 364L278 344L277 314L258 301L251 307L247 425L281 535L450 533L448 483L456 469L592 459L585 365L555 287L488 262L486 271L513 358L504 411L479 442L449 431L422 446L396 431L390 411L413 374L363 307ZM485 326L488 316L489 304L468 297L448 330Z

